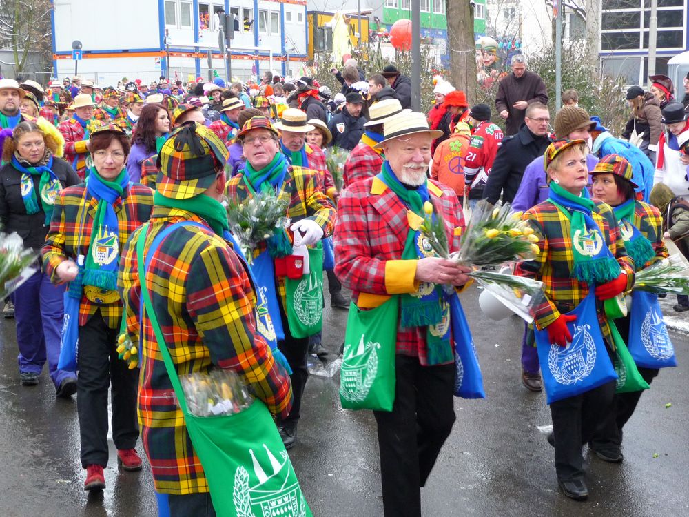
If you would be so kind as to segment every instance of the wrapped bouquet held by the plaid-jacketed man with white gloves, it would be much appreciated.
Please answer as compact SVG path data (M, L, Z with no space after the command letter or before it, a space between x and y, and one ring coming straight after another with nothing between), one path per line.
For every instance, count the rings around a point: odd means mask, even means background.
M289 225L287 199L274 193L256 193L244 201L227 199L227 220L242 252L251 263L258 244Z

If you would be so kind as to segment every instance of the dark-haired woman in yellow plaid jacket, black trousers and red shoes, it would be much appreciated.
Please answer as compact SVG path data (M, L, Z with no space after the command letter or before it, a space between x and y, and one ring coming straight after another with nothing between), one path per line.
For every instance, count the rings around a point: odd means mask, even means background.
M117 292L120 250L148 221L153 191L130 182L125 161L127 134L116 125L94 130L88 141L94 165L87 180L63 190L56 199L43 246L45 274L53 283L70 283L81 294L76 402L81 434L85 490L105 488L107 465L107 392L112 384L112 440L125 470L141 469L134 447L138 439L138 371L118 358L116 339L122 322ZM70 315L71 316L71 315Z

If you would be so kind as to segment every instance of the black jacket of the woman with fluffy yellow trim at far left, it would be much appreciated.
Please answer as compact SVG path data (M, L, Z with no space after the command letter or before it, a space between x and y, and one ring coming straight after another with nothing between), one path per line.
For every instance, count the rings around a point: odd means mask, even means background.
M79 185L81 179L76 175L72 165L63 159L53 158L52 172L62 183L62 187ZM35 192L39 192L41 176L32 176ZM40 201L39 201L40 202ZM21 197L21 172L12 163L6 163L0 169L0 222L3 232L17 232L24 241L25 247L41 251L48 235L49 227L45 225L43 210L37 214L27 214Z

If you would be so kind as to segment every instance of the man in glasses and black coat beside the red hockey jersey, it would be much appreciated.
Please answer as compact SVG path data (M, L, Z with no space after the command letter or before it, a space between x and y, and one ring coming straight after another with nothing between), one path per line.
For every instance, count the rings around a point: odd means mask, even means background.
M548 124L551 118L548 106L542 103L529 104L526 117L519 132L506 136L497 150L491 174L483 189L484 199L493 205L500 199L511 203L522 183L526 165L536 156L543 156L551 143L548 138Z

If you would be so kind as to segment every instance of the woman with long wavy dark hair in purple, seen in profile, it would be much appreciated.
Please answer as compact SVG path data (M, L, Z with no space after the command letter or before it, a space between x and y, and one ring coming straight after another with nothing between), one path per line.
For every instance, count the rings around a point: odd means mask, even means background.
M141 163L158 154L170 130L169 113L161 104L147 104L141 110L132 134L132 150L127 159L127 172L132 183L141 181Z

